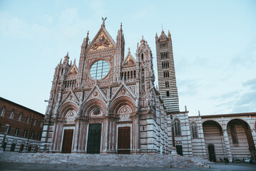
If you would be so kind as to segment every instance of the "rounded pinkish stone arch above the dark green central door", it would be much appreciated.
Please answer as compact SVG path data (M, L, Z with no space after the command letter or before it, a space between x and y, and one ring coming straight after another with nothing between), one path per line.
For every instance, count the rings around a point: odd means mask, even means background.
M91 110L96 107L98 107L101 110L101 113L104 113L104 111L106 111L106 103L103 101L103 99L92 98L83 104L82 115L89 116Z

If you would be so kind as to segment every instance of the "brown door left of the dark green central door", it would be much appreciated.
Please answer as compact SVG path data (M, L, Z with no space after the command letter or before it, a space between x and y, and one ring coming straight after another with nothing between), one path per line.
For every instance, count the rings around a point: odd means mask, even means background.
M73 140L73 130L64 130L63 142L62 142L62 153L71 153Z

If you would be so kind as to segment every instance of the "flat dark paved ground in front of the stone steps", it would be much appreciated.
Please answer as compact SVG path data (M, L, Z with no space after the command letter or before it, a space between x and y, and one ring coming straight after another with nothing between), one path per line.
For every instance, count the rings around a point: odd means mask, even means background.
M61 170L61 171L80 171L80 170L103 170L103 171L249 171L256 170L256 165L247 163L235 163L224 165L223 163L210 164L211 168L167 168L167 167L117 167L117 166L84 166L84 165L52 165L52 164L31 164L31 163L14 163L0 162L0 171L45 171L45 170Z

